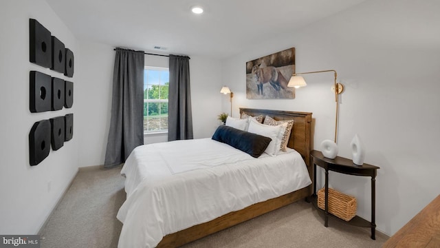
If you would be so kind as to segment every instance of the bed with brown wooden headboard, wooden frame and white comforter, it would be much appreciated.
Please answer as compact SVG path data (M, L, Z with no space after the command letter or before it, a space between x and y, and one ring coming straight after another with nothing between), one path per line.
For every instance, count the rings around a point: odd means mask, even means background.
M253 158L211 138L137 147L121 171L119 247L179 247L310 196L311 113L240 113L294 120L287 152Z

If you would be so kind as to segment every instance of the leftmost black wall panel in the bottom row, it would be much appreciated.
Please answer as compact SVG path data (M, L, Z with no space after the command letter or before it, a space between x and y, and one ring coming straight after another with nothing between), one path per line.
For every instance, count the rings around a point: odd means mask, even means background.
M50 152L50 121L34 123L29 133L29 163L38 165Z

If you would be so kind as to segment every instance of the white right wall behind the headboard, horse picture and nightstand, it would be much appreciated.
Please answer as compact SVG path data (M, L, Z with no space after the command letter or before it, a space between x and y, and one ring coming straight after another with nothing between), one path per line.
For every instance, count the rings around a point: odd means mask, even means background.
M296 72L334 69L346 87L341 97L340 156L359 134L366 163L381 167L376 180L377 229L392 235L439 194L439 1L372 0L223 61L223 81L238 107L313 112L314 149L333 139L333 74L306 75L294 100L245 98L245 62L296 48ZM229 111L228 99L222 99ZM323 179L321 178L321 185ZM370 220L369 178L330 174L330 185L358 198L358 215Z

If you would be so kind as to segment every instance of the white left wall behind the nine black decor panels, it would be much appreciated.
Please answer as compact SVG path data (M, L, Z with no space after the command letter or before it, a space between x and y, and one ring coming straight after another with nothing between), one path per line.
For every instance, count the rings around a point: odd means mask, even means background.
M36 19L74 52L73 79L29 61L29 19ZM0 8L0 234L36 234L78 170L78 44L43 0L5 0ZM29 110L29 72L74 82L71 109ZM29 163L29 132L36 121L74 113L74 136L39 165Z

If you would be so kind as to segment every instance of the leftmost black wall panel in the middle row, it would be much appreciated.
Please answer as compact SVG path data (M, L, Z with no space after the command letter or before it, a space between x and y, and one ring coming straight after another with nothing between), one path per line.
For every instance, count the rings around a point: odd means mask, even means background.
M52 109L52 78L41 72L30 72L30 112L45 112Z

